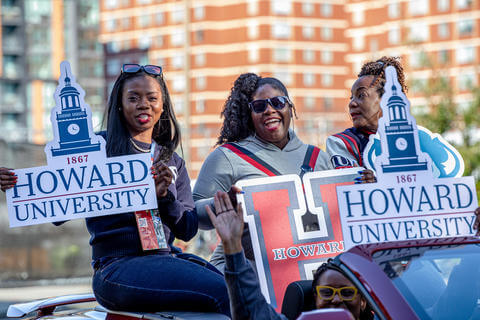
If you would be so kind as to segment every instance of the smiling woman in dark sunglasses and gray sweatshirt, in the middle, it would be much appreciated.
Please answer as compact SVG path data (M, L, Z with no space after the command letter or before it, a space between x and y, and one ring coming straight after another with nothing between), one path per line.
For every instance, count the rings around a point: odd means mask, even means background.
M290 129L295 106L287 88L275 78L254 73L240 75L221 113L223 125L216 148L205 160L193 189L199 226L212 229L205 205L218 190L228 191L242 179L298 174L331 169L328 156L303 143ZM246 256L253 260L248 231L243 236ZM221 245L211 262L224 269Z

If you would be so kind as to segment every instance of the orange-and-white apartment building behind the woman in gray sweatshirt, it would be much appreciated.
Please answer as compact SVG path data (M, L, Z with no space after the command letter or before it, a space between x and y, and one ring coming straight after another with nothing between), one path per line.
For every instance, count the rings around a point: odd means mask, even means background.
M118 57L146 50L140 63L164 68L183 151L195 177L215 145L220 111L244 72L281 79L295 103L296 132L309 143L348 125L345 1L105 0L100 41L106 76ZM111 86L111 81L109 82Z

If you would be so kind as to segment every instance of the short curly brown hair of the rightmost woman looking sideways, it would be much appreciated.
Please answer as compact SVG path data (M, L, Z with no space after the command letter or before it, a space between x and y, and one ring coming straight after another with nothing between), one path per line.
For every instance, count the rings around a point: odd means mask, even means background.
M381 97L385 90L383 89L386 79L385 79L385 68L388 66L393 66L397 70L398 82L402 86L403 93L407 93L408 87L405 83L405 73L403 71L403 66L400 63L399 57L387 57L383 56L376 61L369 61L363 64L358 77L362 76L374 76L372 82L372 87L377 87L377 92Z

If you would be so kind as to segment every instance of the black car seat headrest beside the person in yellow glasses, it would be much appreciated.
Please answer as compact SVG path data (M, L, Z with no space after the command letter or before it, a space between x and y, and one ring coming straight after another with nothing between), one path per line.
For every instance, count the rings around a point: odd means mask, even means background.
M285 290L282 313L289 319L297 319L303 311L315 308L312 280L299 280L290 283Z

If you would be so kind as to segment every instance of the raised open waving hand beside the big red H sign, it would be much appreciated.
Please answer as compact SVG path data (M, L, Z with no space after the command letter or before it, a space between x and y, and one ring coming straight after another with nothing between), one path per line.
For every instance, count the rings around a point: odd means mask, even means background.
M209 206L206 206L205 209L222 239L225 254L242 251L243 210L241 204L237 204L237 210L235 210L228 193L223 191L217 191L214 203L216 215Z

